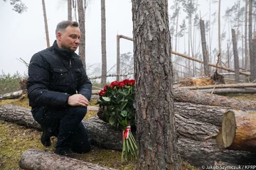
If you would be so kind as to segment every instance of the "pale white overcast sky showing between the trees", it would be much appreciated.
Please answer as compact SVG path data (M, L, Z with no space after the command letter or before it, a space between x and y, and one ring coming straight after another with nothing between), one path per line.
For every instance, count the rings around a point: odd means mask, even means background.
M25 74L27 72L26 65L17 59L21 58L29 63L33 54L46 48L42 1L22 1L28 9L19 14L12 11L9 1L0 0L0 71L3 70L5 73L14 74L18 71ZM231 1L235 2L235 0ZM223 9L226 8L228 2L231 4L231 1L223 1ZM55 40L56 25L68 18L68 7L65 0L45 0L45 2L50 45L52 45ZM198 0L198 2L201 4L199 7L201 16L207 16L208 1ZM107 0L105 5L107 70L109 70L116 63L117 34L132 37L132 3L130 0ZM218 4L212 7L212 12L216 11ZM171 12L169 10L169 13ZM85 13L85 57L87 65L101 63L100 16L100 0L90 0ZM181 16L184 17L184 12L181 12ZM73 19L75 20L75 18ZM213 31L217 31L217 27ZM213 42L215 41L213 40ZM121 39L120 47L120 54L133 52L133 43L129 40ZM78 53L78 50L76 52Z

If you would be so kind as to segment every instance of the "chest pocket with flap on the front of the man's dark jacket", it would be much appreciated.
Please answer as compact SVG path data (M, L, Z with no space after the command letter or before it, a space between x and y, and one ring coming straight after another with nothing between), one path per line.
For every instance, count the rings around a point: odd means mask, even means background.
M56 85L68 85L68 69L53 68L52 81Z

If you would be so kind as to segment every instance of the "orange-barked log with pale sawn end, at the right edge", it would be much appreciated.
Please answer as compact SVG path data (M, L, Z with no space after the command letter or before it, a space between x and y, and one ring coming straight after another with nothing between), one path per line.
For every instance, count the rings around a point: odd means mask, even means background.
M222 148L256 152L256 112L225 112L218 138Z

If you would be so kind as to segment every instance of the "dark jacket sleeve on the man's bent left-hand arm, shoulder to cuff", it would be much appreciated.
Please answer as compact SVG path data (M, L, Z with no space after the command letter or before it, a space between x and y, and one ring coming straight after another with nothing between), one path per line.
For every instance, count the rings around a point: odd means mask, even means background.
M69 94L49 91L50 67L36 53L28 66L27 90L31 106L68 106Z

